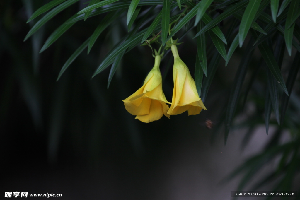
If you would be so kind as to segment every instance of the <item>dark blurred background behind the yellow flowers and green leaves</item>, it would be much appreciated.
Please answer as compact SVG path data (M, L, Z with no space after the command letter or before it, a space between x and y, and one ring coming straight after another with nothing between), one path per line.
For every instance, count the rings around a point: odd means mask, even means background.
M101 34L89 55L85 49L56 82L65 61L103 16L77 22L39 54L58 25L86 5L80 1L67 8L23 42L37 22L26 24L27 19L46 2L0 1L1 198L7 191L28 191L61 193L60 199L232 199L230 191L237 189L241 176L229 182L223 178L261 152L277 133L272 115L268 135L264 121L255 121L251 126L232 128L224 145L222 120L241 52L232 56L227 67L221 60L205 100L207 111L171 119L163 116L145 124L126 111L122 100L140 87L153 67L151 50L137 46L125 54L109 89L109 69L91 79L109 49L126 34L125 18L119 19ZM193 31L187 34L179 46L192 76L193 35ZM172 58L168 54L161 63L169 101ZM285 58L288 66L291 61ZM254 52L246 83L260 61ZM263 109L264 103L257 103L265 97L259 83L251 87L244 111L234 124ZM207 120L213 122L213 128L205 126ZM279 143L290 139L289 130L283 130ZM275 169L277 163L278 159L268 163L251 181ZM271 190L271 186L263 188Z

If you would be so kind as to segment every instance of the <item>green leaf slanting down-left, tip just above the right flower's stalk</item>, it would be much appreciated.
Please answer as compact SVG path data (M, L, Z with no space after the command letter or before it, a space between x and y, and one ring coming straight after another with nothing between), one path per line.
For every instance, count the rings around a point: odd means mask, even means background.
M209 0L211 1L211 0ZM204 10L203 13L205 12L205 10L207 9L207 7L205 7L207 5L208 0L202 0L200 1L195 7L193 7L183 18L181 21L179 21L177 23L177 25L173 28L173 31L171 32L171 34L169 35L169 37L167 38L166 41L170 40L170 38L177 33L188 21L190 21L197 13L198 8L200 8L201 10ZM201 11L202 13L202 11ZM201 19L201 18L200 18Z

